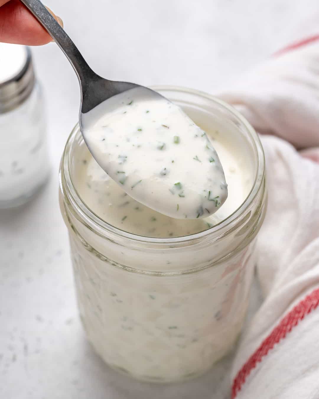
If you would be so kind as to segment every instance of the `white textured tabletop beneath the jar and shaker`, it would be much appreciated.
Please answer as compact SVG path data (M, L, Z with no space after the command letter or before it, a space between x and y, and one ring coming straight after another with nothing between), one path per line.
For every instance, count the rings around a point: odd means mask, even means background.
M282 45L315 33L317 4L318 0L304 0L302 7L291 0L47 2L100 75L211 93ZM55 44L36 48L33 55L47 95L52 174L31 203L0 212L0 398L227 397L225 382L221 384L227 359L195 381L150 385L108 369L85 341L57 201L59 159L77 120L79 87ZM252 308L258 303L254 291Z

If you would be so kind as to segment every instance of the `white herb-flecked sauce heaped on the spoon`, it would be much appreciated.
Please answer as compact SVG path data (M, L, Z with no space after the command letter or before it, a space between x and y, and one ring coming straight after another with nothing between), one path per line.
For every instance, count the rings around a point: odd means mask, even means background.
M208 217L227 198L223 168L207 134L180 107L146 88L116 95L84 114L82 131L102 169L130 197L163 215Z

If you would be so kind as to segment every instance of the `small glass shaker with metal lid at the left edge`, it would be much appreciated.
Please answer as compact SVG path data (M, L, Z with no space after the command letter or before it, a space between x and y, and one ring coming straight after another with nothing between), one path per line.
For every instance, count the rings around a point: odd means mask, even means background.
M49 173L44 101L28 47L0 43L0 208L27 202Z

